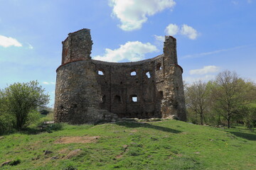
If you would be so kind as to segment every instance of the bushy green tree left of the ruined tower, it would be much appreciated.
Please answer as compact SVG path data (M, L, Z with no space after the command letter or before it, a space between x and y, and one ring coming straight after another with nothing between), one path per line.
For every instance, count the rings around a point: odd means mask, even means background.
M38 86L38 81L15 83L1 91L1 108L13 116L17 130L21 130L28 123L29 113L35 111L38 106L48 104L49 96L44 92L42 86Z

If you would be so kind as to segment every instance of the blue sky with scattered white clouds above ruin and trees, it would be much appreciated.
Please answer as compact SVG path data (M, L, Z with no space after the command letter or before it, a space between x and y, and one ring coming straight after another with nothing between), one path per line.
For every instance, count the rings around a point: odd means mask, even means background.
M256 81L255 16L255 0L0 0L0 89L38 80L53 106L61 42L82 28L97 60L155 57L173 35L188 83L225 69Z

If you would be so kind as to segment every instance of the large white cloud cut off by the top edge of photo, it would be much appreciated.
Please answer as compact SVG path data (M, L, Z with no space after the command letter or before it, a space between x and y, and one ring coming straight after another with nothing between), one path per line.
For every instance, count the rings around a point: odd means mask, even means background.
M175 6L174 0L109 0L112 15L119 18L122 30L137 30L147 21L147 16Z

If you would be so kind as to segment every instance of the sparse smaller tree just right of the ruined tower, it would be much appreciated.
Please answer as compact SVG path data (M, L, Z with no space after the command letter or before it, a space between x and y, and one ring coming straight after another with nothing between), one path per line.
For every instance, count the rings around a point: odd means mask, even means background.
M187 108L200 116L200 123L203 125L203 116L209 104L207 84L196 81L191 86L186 86L185 94Z

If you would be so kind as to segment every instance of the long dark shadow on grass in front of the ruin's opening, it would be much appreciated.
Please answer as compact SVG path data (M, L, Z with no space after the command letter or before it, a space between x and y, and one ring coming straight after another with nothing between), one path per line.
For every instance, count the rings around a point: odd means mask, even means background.
M138 123L138 122L117 122L117 125L122 125L125 126L127 128L151 128L151 129L155 129L155 130L161 130L164 132L171 132L171 133L180 133L180 130L174 130L171 128L165 128L165 127L161 127L158 125L151 125L149 123Z

